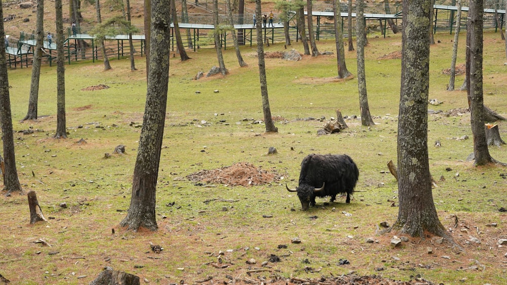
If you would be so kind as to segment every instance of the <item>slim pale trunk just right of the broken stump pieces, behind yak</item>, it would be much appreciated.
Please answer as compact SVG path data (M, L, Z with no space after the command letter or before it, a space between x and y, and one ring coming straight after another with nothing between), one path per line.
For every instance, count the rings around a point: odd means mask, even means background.
M337 0L335 0L337 1ZM363 126L374 126L370 106L368 104L368 93L366 89L365 69L365 15L364 0L356 0L356 37L357 37L357 88L359 91L359 108L361 109L361 124Z

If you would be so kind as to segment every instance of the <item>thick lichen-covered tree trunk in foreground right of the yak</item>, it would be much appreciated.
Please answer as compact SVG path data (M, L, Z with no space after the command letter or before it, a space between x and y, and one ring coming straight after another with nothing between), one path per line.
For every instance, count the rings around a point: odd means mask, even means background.
M393 225L424 238L425 232L447 236L431 193L428 159L430 0L403 2L402 75L397 159L400 206ZM484 127L483 127L484 128Z

